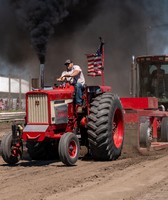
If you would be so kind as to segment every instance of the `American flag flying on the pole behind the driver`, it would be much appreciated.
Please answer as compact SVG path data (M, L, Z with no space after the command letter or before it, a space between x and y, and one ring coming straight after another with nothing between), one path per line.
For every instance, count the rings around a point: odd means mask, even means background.
M86 54L88 61L88 76L102 75L102 70L103 70L102 47L103 43L100 45L100 48L96 51L95 54Z

